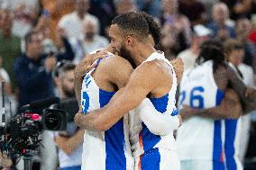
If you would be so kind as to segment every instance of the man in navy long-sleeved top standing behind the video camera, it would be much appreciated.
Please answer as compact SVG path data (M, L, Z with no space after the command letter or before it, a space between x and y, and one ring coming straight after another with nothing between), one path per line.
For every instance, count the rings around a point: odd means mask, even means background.
M25 36L25 47L25 53L14 62L14 75L19 87L19 108L54 95L51 71L56 65L56 58L42 55L41 36L36 31Z

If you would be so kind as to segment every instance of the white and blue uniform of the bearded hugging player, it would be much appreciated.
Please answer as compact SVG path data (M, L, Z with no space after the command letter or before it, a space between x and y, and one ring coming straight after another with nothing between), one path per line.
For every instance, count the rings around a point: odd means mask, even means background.
M165 94L160 98L150 98L151 103L153 104L154 109L162 114L176 115L178 114L178 110L175 106L175 94L177 90L177 77L175 75L175 71L169 63L169 60L160 52L152 53L144 62L154 59L161 59L169 64L173 73L173 83L168 94ZM137 112L134 116L136 117L138 114L139 113ZM133 120L133 125L131 124L131 126L133 126L131 143L133 157L135 158L135 169L179 170L179 159L175 151L175 139L173 137L173 132L164 136L155 135L151 133L142 120L138 118Z

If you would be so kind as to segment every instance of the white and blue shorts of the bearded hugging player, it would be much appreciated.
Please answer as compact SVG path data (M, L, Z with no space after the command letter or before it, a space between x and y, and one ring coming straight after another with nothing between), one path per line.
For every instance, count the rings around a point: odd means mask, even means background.
M163 148L152 148L136 158L135 165L135 170L180 170L176 151Z

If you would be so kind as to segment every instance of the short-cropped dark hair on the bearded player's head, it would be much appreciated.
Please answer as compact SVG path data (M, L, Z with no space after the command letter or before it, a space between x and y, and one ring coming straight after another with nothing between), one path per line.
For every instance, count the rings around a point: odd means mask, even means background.
M149 26L146 19L139 13L123 13L114 18L112 24L117 24L124 36L133 35L137 40L147 40Z

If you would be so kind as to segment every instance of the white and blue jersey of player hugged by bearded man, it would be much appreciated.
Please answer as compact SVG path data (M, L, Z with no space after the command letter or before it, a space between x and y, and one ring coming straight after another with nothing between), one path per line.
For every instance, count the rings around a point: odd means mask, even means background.
M81 105L85 113L104 107L114 95L114 92L107 92L96 85L91 76L95 69L87 73L82 84ZM86 130L82 170L132 170L134 160L128 131L128 115L104 132Z

